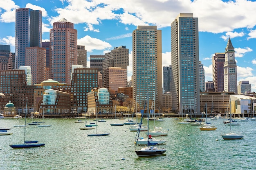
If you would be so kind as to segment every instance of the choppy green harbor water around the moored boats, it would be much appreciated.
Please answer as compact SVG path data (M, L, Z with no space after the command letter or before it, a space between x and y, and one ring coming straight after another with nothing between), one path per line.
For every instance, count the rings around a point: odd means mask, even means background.
M130 132L129 125L110 126L115 119L97 123L97 132L110 133L101 137L88 137L87 134L95 133L95 129L80 130L85 123L74 123L76 119L45 119L44 124L52 126L26 127L26 140L39 140L45 146L27 149L9 146L23 142L24 127L13 127L19 124L18 119L0 119L0 127L11 127L9 132L13 133L0 135L0 170L256 169L256 121L239 122L239 126L231 127L232 131L243 134L244 139L223 140L220 135L229 132L223 119L211 121L217 126L215 131L200 131L198 126L177 124L174 118L164 120L155 124L169 129L168 136L155 138L166 139L166 144L161 146L167 149L166 153L139 158L134 151L136 132ZM22 122L24 124L25 120L21 119L20 124ZM32 120L27 119L29 122ZM146 124L146 120L143 123ZM153 121L150 127L153 128ZM140 136L146 137L144 132Z

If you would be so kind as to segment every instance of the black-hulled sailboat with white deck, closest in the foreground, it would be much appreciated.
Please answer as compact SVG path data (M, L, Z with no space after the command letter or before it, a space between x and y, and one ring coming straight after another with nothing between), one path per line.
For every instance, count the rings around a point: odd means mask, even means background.
M147 94L147 103L148 103L148 94ZM146 105L146 103L145 103L145 105ZM144 110L145 110L145 106L144 106ZM148 111L149 111L149 107L147 109L147 112ZM142 116L141 116L141 121L140 121L141 123L142 123L143 113L142 113ZM148 113L148 122L149 122L149 113ZM138 138L139 138L141 123L139 124L139 129L138 129L137 135L136 135L137 141L138 141ZM139 157L149 157L149 156L163 155L166 152L166 149L164 149L164 148L160 149L160 148L157 148L156 146L150 146L149 134L148 134L148 141L147 142L148 142L148 144L147 144L146 147L141 148L140 150L135 149L135 153ZM136 145L137 145L137 142L136 142Z

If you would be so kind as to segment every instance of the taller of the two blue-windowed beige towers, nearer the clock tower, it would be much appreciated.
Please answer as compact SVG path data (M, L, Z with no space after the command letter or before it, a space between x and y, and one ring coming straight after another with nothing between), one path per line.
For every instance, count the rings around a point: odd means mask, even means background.
M171 23L172 109L200 113L198 18L180 13Z

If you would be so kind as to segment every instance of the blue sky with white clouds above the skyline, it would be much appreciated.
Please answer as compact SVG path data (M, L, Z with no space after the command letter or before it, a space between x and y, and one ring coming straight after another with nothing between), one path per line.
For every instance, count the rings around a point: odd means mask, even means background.
M78 45L91 54L105 54L126 46L130 52L128 80L132 76L132 31L138 25L162 30L163 66L171 65L171 22L179 13L199 20L199 59L205 80L212 81L212 56L225 52L230 37L235 48L238 81L248 80L256 92L255 0L1 0L0 44L15 49L15 9L40 9L43 41L49 41L52 23L65 18L75 24Z

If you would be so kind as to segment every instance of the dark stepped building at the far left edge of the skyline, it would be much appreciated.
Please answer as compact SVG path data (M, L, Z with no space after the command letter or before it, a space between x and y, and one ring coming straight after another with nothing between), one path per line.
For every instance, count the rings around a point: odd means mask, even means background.
M13 69L11 46L0 44L0 70Z

